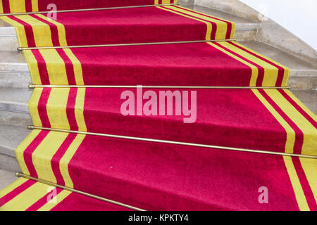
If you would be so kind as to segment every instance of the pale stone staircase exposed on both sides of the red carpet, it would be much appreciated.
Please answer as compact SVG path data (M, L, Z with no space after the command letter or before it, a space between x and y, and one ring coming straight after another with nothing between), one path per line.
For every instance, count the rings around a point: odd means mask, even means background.
M313 110L313 113L317 113L316 67L255 41L261 27L260 23L211 8L185 3L182 5L235 22L237 41L290 68L289 84L293 93ZM18 40L14 28L0 21L0 189L13 181L13 172L20 170L14 150L29 134L27 125L32 124L27 108L27 102L32 95L32 89L27 87L31 83L30 73L25 58L16 50L17 47Z

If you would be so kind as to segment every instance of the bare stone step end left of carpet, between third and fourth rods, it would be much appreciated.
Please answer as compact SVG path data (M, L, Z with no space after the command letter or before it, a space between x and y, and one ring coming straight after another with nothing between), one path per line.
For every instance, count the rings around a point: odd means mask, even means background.
M32 89L0 88L0 124L26 127L32 124L27 103Z

